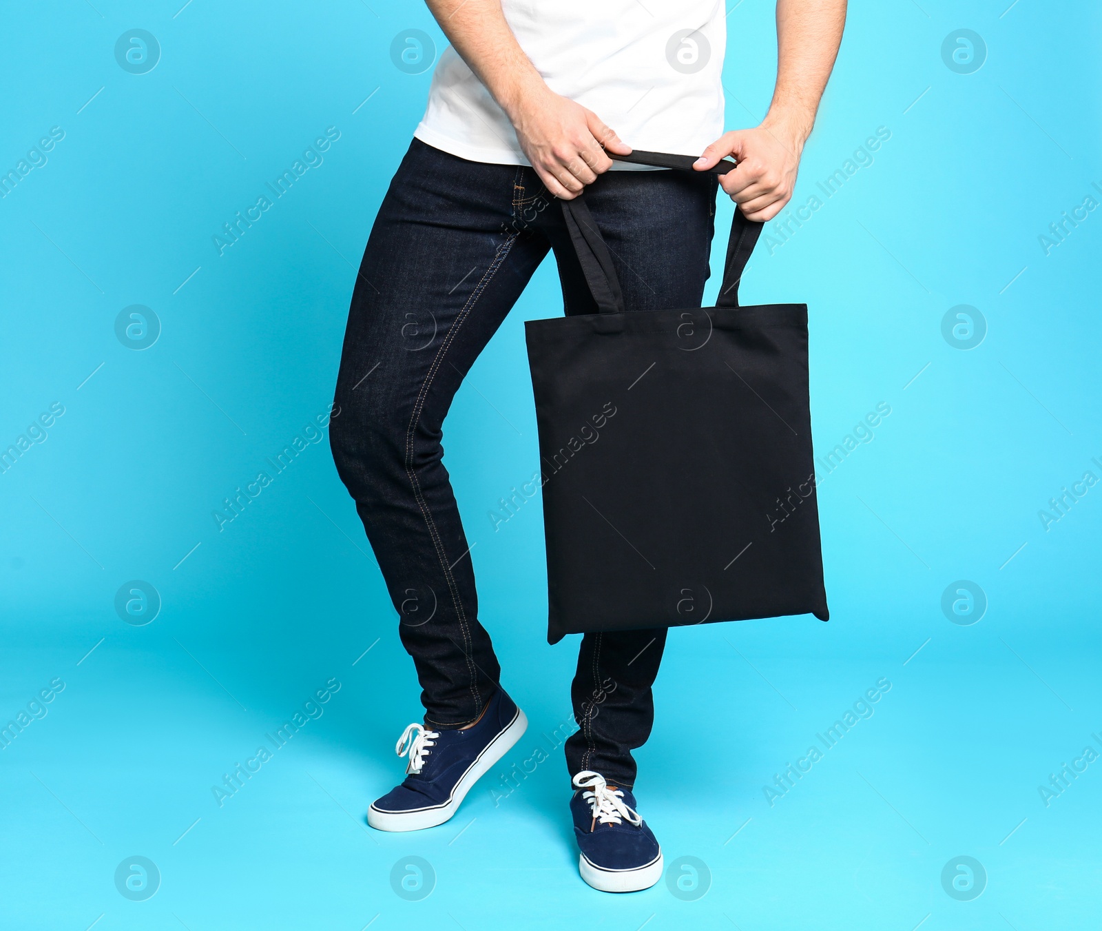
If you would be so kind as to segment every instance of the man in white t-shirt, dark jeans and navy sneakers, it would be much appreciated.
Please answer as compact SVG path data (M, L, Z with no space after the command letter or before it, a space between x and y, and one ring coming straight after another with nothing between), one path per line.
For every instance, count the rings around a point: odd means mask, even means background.
M382 831L450 818L527 727L478 622L440 438L464 374L549 250L565 312L596 312L555 199L586 190L629 311L700 307L716 186L750 220L788 202L845 19L845 0L778 0L769 111L724 133L719 0L428 3L452 46L367 244L331 432L425 710L398 741L406 780L368 811ZM633 148L699 154L700 171L626 170L608 157ZM738 167L717 182L704 170L726 156ZM645 889L662 874L630 751L650 734L666 634L582 640L580 729L565 751L580 870L597 889Z

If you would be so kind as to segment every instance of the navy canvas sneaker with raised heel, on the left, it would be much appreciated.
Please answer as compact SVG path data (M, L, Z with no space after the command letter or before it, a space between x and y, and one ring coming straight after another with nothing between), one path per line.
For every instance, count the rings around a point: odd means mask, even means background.
M399 757L409 756L406 781L371 803L367 823L379 831L443 824L527 728L525 713L500 688L478 721L464 730L426 730L411 724L395 747Z

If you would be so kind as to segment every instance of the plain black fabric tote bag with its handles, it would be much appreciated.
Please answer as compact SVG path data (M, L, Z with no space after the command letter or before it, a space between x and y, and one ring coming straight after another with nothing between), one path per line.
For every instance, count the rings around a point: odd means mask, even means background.
M825 621L807 304L738 304L761 224L736 208L716 307L625 312L584 196L561 203L599 312L525 324L548 641L808 612Z

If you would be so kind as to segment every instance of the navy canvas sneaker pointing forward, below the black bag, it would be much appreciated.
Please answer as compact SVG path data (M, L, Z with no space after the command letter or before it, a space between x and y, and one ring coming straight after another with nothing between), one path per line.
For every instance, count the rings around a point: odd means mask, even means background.
M602 892L638 892L662 878L662 848L635 810L635 796L585 770L570 800L582 879Z

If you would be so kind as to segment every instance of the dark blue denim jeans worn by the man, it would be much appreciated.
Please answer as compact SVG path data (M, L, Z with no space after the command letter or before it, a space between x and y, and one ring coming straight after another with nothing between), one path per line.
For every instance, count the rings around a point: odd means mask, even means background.
M611 172L586 201L628 310L699 307L714 175ZM387 191L353 292L333 457L399 614L434 728L475 720L500 667L478 622L441 430L465 373L553 250L566 313L595 313L560 205L531 168L471 162L414 140ZM532 449L532 461L537 459ZM629 788L653 724L666 630L586 634L571 699L571 773ZM516 673L515 673L516 675Z

